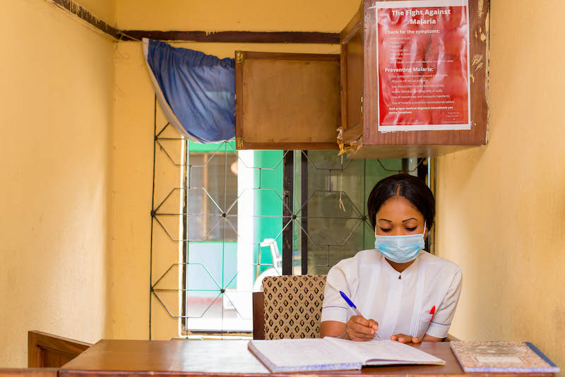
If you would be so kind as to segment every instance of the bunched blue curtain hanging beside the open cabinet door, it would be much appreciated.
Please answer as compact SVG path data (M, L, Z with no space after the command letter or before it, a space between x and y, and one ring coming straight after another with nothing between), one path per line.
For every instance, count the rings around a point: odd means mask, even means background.
M234 138L234 59L147 39L143 40L143 53L170 124L200 143Z

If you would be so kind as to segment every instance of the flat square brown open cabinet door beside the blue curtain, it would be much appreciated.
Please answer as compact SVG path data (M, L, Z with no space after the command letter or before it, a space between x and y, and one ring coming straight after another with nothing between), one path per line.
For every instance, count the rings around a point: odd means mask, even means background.
M237 149L338 149L338 54L238 51L235 61Z

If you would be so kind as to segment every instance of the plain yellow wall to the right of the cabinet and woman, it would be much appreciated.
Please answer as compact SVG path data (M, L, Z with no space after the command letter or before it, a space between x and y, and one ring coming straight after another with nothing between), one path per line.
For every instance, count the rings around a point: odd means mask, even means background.
M520 5L491 5L489 145L438 159L437 249L463 269L453 335L564 369L565 3Z

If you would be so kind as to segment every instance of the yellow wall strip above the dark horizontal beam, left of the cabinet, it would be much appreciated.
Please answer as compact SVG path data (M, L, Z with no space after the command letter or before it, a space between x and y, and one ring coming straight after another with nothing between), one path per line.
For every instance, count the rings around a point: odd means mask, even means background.
M359 0L116 0L124 30L339 32Z

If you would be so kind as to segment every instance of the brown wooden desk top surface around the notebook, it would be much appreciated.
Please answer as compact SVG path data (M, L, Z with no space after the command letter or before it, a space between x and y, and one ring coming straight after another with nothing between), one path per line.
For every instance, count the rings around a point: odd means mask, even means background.
M59 377L125 376L302 376L324 375L461 375L464 374L448 342L415 345L446 361L444 366L377 366L361 371L276 373L268 369L247 349L246 340L100 340L59 370ZM479 376L480 373L473 373ZM496 373L496 376L512 376ZM518 375L516 375L518 376ZM521 376L524 376L523 374ZM538 376L552 376L552 373Z

